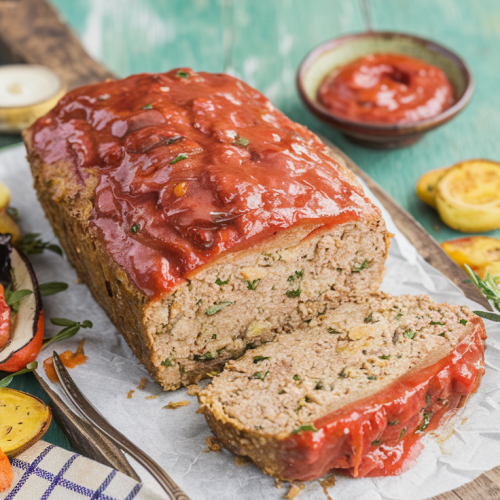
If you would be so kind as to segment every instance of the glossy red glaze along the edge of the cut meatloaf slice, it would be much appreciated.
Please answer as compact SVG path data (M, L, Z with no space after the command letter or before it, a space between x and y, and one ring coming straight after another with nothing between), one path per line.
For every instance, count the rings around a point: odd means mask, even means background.
M437 363L316 420L317 432L286 438L282 477L307 481L332 469L354 477L392 476L412 467L422 435L450 418L479 387L486 338L481 319L473 320L473 329Z

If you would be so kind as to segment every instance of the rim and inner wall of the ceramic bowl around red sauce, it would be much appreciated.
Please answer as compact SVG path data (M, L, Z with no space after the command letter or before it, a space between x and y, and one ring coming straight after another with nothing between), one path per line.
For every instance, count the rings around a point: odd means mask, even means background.
M366 41L364 44L363 40ZM394 46L395 40L400 42L396 46ZM358 45L358 50L342 51L343 47L352 47L355 44ZM343 54L343 52L345 53ZM448 80L450 80L453 91L459 98L448 109L445 109L438 115L425 118L424 120L395 124L348 120L332 113L318 101L317 94L319 87L326 76L333 70L345 66L360 57L384 52L412 56L437 66L445 73ZM320 66L318 63L322 63L322 65ZM311 76L312 71L314 73ZM334 38L314 48L307 54L299 67L297 86L302 99L328 120L334 119L337 123L347 126L362 126L386 131L398 130L401 132L405 129L413 131L416 126L419 129L426 128L427 125L432 126L436 122L441 123L458 113L466 106L472 96L474 79L465 61L443 45L405 33L367 31Z

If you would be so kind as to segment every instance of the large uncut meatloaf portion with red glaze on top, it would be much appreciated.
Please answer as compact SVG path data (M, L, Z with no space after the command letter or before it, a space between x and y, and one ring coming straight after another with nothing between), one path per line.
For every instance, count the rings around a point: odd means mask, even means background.
M231 76L82 87L23 138L68 258L167 390L382 280L389 235L355 177Z

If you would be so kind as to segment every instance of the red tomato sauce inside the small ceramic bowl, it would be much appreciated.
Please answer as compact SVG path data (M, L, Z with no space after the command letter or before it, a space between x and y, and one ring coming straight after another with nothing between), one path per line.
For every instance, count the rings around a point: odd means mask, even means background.
M454 102L442 70L402 54L371 54L335 70L318 98L337 116L374 123L417 122Z

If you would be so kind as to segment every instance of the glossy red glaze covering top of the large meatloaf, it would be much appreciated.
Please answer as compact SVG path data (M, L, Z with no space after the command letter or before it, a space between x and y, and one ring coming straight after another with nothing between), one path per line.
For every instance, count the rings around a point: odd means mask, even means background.
M183 69L82 87L32 130L45 162L70 162L82 185L97 172L92 222L153 298L296 224L377 213L314 134L228 75Z

